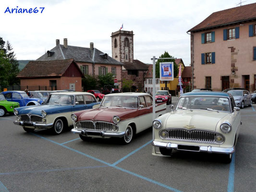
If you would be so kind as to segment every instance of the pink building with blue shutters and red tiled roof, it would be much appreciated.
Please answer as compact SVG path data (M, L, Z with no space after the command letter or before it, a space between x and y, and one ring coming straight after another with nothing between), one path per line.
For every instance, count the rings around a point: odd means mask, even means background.
M256 90L256 3L212 13L191 33L193 88Z

